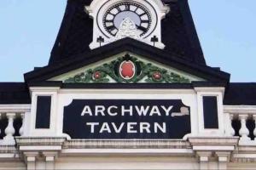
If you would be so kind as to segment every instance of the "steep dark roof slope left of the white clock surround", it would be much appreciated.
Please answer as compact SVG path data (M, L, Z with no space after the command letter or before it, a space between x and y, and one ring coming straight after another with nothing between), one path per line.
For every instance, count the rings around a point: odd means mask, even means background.
M84 12L89 0L68 0L61 28L51 51L49 64L67 59L74 54L90 51L93 20Z

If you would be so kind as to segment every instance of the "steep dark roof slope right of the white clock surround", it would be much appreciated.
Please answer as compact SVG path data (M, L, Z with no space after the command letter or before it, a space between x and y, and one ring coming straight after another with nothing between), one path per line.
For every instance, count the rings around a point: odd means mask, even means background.
M188 0L166 0L171 12L162 20L162 42L165 50L197 64L206 64L197 36Z

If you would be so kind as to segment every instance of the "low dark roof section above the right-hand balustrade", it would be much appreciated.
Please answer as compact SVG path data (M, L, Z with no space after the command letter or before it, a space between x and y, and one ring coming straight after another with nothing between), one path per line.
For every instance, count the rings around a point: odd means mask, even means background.
M226 90L224 105L256 105L256 83L231 82Z

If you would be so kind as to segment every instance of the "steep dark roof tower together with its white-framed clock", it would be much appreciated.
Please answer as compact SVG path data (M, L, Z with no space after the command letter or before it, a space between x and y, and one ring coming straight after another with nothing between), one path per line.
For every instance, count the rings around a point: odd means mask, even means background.
M68 0L49 64L112 47L127 37L206 65L188 0Z

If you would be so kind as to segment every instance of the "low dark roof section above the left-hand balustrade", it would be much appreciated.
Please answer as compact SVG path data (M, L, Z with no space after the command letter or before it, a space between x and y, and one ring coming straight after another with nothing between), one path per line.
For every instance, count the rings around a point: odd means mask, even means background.
M0 82L0 105L30 103L30 95L24 82Z

